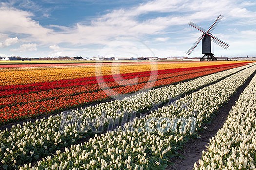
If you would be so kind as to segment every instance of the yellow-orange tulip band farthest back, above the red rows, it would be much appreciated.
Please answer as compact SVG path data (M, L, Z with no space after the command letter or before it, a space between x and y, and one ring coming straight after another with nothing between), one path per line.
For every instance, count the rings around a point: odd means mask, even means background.
M237 62L229 62L237 63ZM92 77L100 71L103 75L123 74L142 71L154 71L172 68L188 68L199 67L208 65L226 64L225 62L212 62L212 63L152 63L152 64L134 64L134 65L95 65L94 66L70 66L66 68L12 68L0 69L0 86L3 85L19 85L28 83L38 83L55 81L62 79L74 79L81 77ZM138 67L139 65L139 67Z

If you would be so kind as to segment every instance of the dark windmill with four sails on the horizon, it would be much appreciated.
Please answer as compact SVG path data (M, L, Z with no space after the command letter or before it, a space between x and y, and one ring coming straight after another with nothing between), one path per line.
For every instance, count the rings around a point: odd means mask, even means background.
M204 61L204 59L212 60L212 61L217 60L217 58L215 58L213 54L213 49L211 48L211 41L213 41L214 43L216 43L217 45L219 45L224 49L227 49L229 46L227 43L221 41L220 39L218 39L217 37L211 34L223 17L224 17L223 15L219 15L217 19L214 21L214 23L208 28L208 30L205 30L204 28L198 26L193 22L189 23L190 26L199 30L203 34L197 39L197 41L193 44L193 46L186 52L188 55L191 54L191 52L197 47L199 42L202 40L202 53L204 54L204 56L200 58L200 61Z

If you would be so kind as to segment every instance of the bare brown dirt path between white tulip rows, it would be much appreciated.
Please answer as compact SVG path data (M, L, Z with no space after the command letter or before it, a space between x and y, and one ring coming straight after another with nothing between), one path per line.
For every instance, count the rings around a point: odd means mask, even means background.
M172 160L174 163L173 166L168 166L166 170L192 170L194 163L198 162L202 157L202 151L206 150L206 146L208 146L209 139L215 136L217 131L223 126L225 123L229 111L233 105L235 105L236 100L239 98L240 94L247 87L247 85L252 80L253 76L256 72L254 72L245 83L238 88L235 94L233 94L228 102L226 102L222 107L219 108L216 116L211 119L210 124L205 124L205 129L203 131L198 132L201 136L199 139L190 139L185 145L183 151L178 151L185 158L175 158ZM203 126L202 126L203 127Z

